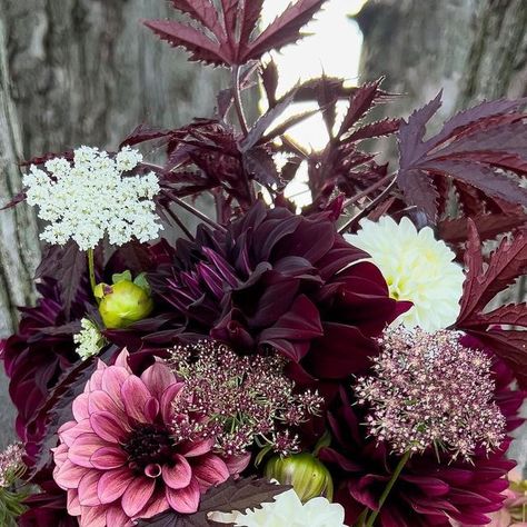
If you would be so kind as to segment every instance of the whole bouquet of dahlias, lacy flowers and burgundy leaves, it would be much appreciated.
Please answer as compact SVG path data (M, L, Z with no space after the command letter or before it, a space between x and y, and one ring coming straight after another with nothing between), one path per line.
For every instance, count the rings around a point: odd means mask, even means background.
M488 524L527 388L526 306L499 300L527 269L526 101L425 138L440 95L376 122L396 97L379 81L277 93L266 53L324 0L262 30L262 0L171 3L179 21L146 24L230 69L216 115L31 159L9 203L37 207L48 245L2 342L21 441L2 525ZM268 110L248 122L255 83ZM280 120L301 101L317 109ZM315 112L320 151L288 135ZM381 136L395 169L367 150Z

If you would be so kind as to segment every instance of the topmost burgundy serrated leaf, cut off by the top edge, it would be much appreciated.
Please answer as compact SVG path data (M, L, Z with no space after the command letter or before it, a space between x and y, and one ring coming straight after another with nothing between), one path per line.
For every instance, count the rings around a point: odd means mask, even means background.
M296 42L326 0L297 0L255 36L264 0L172 0L192 26L175 20L146 20L161 40L189 51L191 60L215 66L239 66L272 49Z

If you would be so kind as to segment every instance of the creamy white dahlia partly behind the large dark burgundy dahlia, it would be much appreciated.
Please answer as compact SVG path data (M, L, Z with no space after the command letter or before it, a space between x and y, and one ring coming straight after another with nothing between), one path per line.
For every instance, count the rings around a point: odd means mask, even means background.
M400 223L389 217L364 219L360 227L346 240L371 255L392 298L414 302L396 322L427 331L455 322L465 275L447 245L436 240L429 227L417 231L408 218Z

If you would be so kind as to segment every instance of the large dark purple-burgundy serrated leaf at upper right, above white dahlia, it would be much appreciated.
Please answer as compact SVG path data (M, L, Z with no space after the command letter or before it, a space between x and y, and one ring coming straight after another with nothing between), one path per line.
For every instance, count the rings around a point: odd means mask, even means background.
M397 181L406 202L435 222L447 199L446 179L466 212L526 206L527 190L518 186L518 177L527 176L527 125L518 111L525 102L483 102L456 115L427 140L426 126L441 106L441 93L416 110L399 130Z

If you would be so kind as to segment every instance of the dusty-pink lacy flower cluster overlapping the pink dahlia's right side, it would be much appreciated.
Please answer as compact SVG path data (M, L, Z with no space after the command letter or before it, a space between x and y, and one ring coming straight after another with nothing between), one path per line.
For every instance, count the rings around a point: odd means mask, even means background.
M242 456L255 443L288 454L298 450L290 430L320 411L322 399L296 394L284 375L286 360L272 352L240 357L212 340L177 346L170 364L185 381L173 401L172 435L212 437L216 451Z

